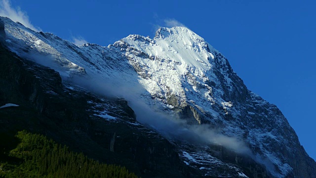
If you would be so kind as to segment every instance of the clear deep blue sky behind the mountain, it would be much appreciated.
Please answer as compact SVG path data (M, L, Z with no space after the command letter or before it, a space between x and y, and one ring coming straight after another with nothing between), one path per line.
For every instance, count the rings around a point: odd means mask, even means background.
M76 43L107 46L185 25L228 58L248 89L280 108L316 160L316 1L0 1L0 14L18 12L32 28Z

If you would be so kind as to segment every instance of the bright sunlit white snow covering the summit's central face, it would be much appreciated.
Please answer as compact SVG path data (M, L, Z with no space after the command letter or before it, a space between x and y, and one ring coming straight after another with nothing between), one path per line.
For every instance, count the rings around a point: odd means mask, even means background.
M140 83L152 96L166 98L166 93L171 92L178 96L179 102L194 98L196 107L207 112L213 112L209 108L215 102L226 102L221 99L222 89L205 84L211 80L222 87L212 73L215 70L213 53L218 51L191 30L185 27L160 28L154 39L130 35L116 45L123 43L130 46L125 56L131 65L141 68L138 74L146 77ZM139 57L141 52L148 57ZM225 64L224 61L221 63ZM227 74L224 77L228 83L232 81ZM214 116L218 114L214 113Z

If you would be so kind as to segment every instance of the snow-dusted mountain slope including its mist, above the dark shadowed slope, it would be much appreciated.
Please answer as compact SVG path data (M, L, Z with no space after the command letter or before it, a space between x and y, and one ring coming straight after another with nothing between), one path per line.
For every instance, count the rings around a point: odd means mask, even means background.
M1 20L10 50L55 69L65 82L131 101L137 120L167 136L204 176L315 178L315 161L279 109L249 91L227 59L191 30L160 28L154 39L130 35L107 47L76 46ZM170 123L174 130L165 128Z

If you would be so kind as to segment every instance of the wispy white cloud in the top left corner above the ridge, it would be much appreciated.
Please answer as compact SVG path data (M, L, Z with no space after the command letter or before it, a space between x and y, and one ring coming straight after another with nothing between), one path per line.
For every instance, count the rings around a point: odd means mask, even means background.
M31 24L29 16L25 11L22 11L20 7L13 8L9 0L0 0L0 16L8 17L14 22L20 22L24 26L40 32L39 27L35 27Z

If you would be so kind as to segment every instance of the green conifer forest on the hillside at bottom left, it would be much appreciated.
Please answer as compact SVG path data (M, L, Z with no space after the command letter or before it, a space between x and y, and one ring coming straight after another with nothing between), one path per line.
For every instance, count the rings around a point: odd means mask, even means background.
M40 134L22 131L4 141L14 149L6 153L0 146L0 178L137 178L125 168L99 163Z

